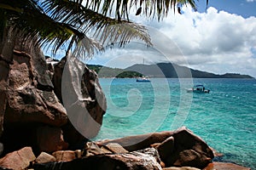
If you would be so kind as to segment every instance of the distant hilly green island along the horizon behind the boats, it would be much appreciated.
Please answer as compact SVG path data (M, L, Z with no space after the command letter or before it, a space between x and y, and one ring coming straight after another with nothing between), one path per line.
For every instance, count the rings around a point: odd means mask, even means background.
M155 65L131 65L125 69L111 68L103 65L87 65L90 70L96 71L99 77L158 77L158 78L249 78L249 75L239 73L225 73L223 75L214 74L207 71L198 71L189 67L175 65L172 63L158 63Z

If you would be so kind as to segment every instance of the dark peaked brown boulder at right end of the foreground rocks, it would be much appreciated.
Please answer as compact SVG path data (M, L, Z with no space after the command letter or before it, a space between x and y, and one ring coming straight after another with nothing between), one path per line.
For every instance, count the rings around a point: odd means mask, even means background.
M165 157L166 167L203 168L212 161L214 156L209 146L186 127L174 131L172 137L174 143L170 143L172 153Z

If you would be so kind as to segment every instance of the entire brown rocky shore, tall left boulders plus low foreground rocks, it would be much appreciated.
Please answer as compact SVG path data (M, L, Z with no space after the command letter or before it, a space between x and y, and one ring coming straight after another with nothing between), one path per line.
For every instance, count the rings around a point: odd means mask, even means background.
M0 58L0 169L249 169L212 162L212 149L186 127L88 141L107 105L96 72L20 44Z

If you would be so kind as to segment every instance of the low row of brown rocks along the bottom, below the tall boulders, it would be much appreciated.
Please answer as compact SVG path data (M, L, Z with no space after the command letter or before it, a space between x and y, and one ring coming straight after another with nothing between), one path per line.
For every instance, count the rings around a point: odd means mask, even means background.
M137 140L141 142L121 145ZM248 170L231 163L212 162L213 157L212 149L202 139L181 127L170 132L87 142L82 150L41 152L38 157L31 147L25 147L0 159L0 167L35 170Z

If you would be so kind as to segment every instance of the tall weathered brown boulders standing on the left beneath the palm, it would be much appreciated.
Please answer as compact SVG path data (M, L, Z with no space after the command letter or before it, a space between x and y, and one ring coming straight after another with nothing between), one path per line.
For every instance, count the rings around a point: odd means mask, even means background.
M35 43L24 43L13 36L9 40L11 41L9 46L0 44L0 142L4 146L3 152L19 150L26 145L38 151L52 152L67 149L64 139L71 144L83 141L85 137L73 127L71 122L74 120L69 120L67 115L67 112L72 113L76 110L71 110L70 105L66 105L68 108L65 108L61 103L61 94L55 94L61 90L61 83L53 83L51 78L53 74L59 74L60 77L55 77L54 81L61 82L62 72L57 72L60 71L58 69L55 70L56 72L48 70L44 55ZM75 62L69 64L67 71L68 69L72 72L79 71L73 74L81 75L83 81L75 83L82 85L74 88L76 92L83 94L83 98L86 96L87 99L91 99L91 101L81 100L78 106L81 108L79 116L85 115L84 119L79 120L83 122L83 127L80 127L85 131L93 132L92 135L86 136L92 137L98 133L102 125L106 99L97 82L96 73L86 70L87 67L78 60ZM83 70L72 68L76 65ZM71 88L67 88L68 90L72 91ZM78 95L70 96L76 101L79 100L78 97ZM101 105L97 103L98 99ZM73 116L73 119L75 118L78 116ZM91 120L97 122L97 128L91 127ZM49 139L52 139L51 144L46 144Z

